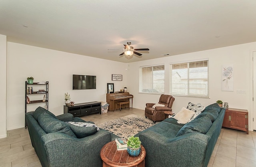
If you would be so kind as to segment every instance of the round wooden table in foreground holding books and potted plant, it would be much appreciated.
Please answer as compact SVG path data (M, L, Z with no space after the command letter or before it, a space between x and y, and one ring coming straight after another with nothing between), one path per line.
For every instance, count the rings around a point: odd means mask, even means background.
M138 157L131 157L127 150L117 151L116 141L106 143L100 150L103 167L145 167L146 150L140 145Z

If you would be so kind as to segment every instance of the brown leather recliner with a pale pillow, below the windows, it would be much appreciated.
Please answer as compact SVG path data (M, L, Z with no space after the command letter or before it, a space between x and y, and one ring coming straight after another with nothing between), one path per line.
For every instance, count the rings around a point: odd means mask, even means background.
M164 95L162 94L159 99L159 104L165 105L162 106L156 106L155 108L152 108L155 103L146 103L145 108L145 116L146 118L151 119L156 123L156 121L162 121L165 119L165 113L164 111L172 111L172 103L174 101L174 97L172 95Z

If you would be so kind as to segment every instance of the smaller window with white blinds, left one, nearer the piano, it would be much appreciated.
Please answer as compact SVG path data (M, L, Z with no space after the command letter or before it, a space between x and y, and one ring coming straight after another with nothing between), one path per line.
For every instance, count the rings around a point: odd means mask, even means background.
M164 93L164 65L140 67L140 93Z

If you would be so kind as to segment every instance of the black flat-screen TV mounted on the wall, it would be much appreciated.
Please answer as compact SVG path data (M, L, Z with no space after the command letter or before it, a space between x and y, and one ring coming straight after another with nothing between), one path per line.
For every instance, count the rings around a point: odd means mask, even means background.
M96 89L96 76L73 75L74 89Z

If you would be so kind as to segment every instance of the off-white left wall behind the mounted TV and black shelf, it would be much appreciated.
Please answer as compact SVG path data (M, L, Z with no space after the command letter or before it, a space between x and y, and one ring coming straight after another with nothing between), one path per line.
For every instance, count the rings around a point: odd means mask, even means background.
M7 130L24 127L27 77L34 77L34 82L49 81L49 111L55 115L63 113L66 92L75 103L106 101L107 83L114 83L115 91L127 86L125 63L12 42L7 49ZM96 76L96 89L72 90L72 74ZM112 81L112 74L122 74L123 81ZM30 95L30 100L35 96L43 99L41 94ZM38 104L27 105L27 112Z

